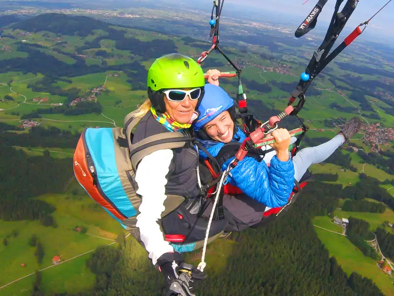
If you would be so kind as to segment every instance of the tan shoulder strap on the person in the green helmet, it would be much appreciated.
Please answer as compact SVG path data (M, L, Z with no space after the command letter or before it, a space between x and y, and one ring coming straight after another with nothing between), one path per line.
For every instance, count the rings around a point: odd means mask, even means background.
M130 113L125 117L125 134L129 147L129 157L131 165L136 170L138 163L146 155L162 149L182 148L186 142L195 140L186 137L180 132L166 132L147 137L135 144L131 144L132 130L138 124L142 117L133 117Z

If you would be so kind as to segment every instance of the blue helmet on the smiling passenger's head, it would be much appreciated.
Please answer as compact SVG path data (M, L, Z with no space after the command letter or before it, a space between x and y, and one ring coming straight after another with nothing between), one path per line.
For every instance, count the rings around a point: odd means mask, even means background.
M198 107L200 115L194 124L194 129L200 130L206 123L232 106L234 106L234 100L223 88L210 83L205 84L204 97Z

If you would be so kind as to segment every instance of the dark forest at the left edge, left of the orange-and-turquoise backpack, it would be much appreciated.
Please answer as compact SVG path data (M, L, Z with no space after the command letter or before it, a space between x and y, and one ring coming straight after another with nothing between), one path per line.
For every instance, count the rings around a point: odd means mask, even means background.
M57 128L34 127L29 133L20 135L4 131L11 127L0 125L0 219L39 220L44 226L57 227L51 216L55 207L32 197L64 192L72 177L71 160L53 158L48 150L44 150L43 156L29 156L12 146L60 147L57 146L60 143L65 146L73 143L74 148L77 138Z

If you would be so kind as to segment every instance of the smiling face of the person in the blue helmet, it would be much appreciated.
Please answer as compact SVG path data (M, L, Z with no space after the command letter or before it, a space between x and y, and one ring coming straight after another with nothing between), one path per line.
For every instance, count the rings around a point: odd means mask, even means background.
M229 111L224 111L216 116L215 119L205 124L203 129L213 140L229 143L234 133L234 122L231 119Z

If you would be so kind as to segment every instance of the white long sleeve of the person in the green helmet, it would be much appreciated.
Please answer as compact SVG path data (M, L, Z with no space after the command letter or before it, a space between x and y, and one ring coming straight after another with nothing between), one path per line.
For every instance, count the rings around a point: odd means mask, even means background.
M141 240L153 264L156 264L157 259L164 253L174 251L172 246L164 240L164 234L157 223L164 212L164 200L167 197L165 176L169 172L172 158L171 149L155 151L142 158L135 173L135 182L138 185L136 192L142 196L136 226L139 228Z

